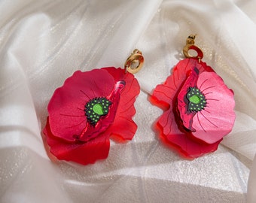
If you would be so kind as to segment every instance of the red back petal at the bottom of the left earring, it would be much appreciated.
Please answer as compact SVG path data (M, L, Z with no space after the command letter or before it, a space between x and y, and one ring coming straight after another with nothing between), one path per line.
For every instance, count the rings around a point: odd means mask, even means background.
M102 134L86 143L72 144L56 138L50 132L48 119L43 132L46 135L47 144L50 146L50 152L57 159L88 165L93 164L98 159L106 159L108 157L109 135Z

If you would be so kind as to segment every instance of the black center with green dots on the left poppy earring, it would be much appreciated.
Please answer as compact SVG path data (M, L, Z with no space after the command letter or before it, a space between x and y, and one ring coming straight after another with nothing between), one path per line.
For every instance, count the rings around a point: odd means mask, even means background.
M95 126L100 117L107 115L111 104L105 97L93 98L87 102L84 111L90 125Z

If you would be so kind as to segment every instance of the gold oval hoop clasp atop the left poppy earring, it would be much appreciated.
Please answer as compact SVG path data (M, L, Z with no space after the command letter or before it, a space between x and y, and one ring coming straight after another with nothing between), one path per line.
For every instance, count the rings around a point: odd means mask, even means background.
M124 64L124 69L131 74L136 74L144 63L144 57L142 56L142 52L140 50L133 50L133 53L126 59Z

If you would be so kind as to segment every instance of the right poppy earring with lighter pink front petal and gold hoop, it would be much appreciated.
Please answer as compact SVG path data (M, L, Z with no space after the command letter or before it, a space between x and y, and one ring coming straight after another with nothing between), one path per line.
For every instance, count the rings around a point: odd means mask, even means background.
M195 35L187 38L183 53L163 84L157 85L151 102L164 111L157 120L160 138L188 158L197 158L218 148L235 121L233 91L206 62L194 45ZM190 56L189 50L197 52Z

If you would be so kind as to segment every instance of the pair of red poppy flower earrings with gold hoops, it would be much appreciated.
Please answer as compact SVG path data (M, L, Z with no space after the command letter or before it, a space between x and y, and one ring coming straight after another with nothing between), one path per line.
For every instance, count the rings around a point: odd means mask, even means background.
M235 120L233 91L205 62L194 45L195 35L187 38L183 59L163 84L157 85L151 103L163 108L157 120L160 138L182 155L202 156L218 148ZM190 56L195 50L197 56ZM136 133L134 102L140 87L134 73L144 58L134 50L125 68L75 71L53 93L44 135L50 153L57 159L92 164L106 159L109 138L132 140Z

